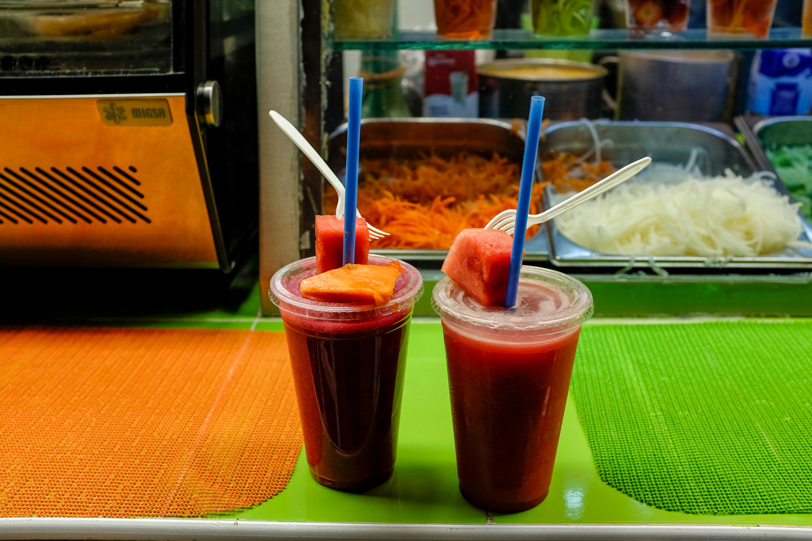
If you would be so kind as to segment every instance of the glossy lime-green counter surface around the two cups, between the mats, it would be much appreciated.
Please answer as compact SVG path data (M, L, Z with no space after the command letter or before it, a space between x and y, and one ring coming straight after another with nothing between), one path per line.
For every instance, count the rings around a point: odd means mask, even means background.
M626 321L690 324L695 320ZM593 320L586 325L582 340L589 340L591 326L610 322L624 320ZM281 328L276 320L262 320L256 325L257 331ZM408 347L398 458L395 474L387 483L361 494L322 487L311 479L303 452L290 483L279 495L252 509L216 517L281 522L812 526L812 514L695 515L664 511L633 500L598 477L572 396L564 415L549 496L524 513L486 513L464 500L457 487L443 332L438 320L415 318Z

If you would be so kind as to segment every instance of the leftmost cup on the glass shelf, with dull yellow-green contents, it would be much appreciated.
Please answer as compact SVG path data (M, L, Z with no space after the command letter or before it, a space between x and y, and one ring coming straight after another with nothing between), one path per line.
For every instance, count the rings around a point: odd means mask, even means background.
M387 37L392 32L392 0L335 0L333 35L338 39Z

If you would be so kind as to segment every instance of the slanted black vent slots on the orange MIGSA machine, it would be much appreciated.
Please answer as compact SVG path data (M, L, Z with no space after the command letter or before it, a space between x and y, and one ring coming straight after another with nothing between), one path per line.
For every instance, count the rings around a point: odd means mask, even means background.
M143 187L126 170L20 167L0 170L0 225L151 223Z

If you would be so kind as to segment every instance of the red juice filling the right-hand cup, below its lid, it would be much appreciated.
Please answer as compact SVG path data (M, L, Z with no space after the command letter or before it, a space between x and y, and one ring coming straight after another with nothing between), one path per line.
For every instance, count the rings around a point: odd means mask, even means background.
M547 496L580 329L540 344L490 342L443 324L460 491L515 513ZM497 398L498 397L498 398Z

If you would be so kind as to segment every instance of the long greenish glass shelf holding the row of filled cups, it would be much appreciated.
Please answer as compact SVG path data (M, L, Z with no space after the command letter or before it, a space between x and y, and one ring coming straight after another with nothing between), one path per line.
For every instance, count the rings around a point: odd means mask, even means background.
M668 37L632 37L625 28L597 29L587 36L536 36L529 30L495 30L488 40L452 40L433 31L400 31L383 39L334 41L335 50L398 49L770 49L810 47L800 28L773 28L768 39L708 37L705 28Z

